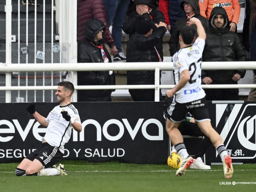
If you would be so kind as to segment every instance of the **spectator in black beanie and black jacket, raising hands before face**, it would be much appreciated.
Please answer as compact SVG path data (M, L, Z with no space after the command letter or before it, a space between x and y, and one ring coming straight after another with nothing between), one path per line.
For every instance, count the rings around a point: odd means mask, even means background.
M156 45L162 41L166 32L166 24L160 22L152 34L152 26L149 20L140 20L136 24L136 33L127 43L127 62L160 62L161 57L156 51ZM127 84L155 84L155 71L127 71ZM134 101L154 101L154 89L129 89ZM160 91L161 93L161 91ZM160 94L162 97L162 94ZM162 100L162 98L160 98Z

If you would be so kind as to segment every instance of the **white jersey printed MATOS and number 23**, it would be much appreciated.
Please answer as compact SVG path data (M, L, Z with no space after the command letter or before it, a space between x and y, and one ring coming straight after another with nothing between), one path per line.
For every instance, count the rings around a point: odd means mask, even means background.
M179 83L182 71L188 69L190 75L188 83L174 95L174 100L178 103L191 102L205 96L201 86L201 62L204 44L204 39L196 39L193 45L180 49L172 56L175 84Z

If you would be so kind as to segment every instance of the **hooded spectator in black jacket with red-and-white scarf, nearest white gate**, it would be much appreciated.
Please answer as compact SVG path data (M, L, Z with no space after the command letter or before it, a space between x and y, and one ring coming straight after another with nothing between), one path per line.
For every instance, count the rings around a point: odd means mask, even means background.
M104 46L102 33L106 26L98 19L89 19L84 25L83 41L77 46L78 63L108 63L112 62L108 50ZM86 65L86 64L84 64ZM78 71L77 85L115 85L113 71ZM77 101L112 101L113 90L78 90Z

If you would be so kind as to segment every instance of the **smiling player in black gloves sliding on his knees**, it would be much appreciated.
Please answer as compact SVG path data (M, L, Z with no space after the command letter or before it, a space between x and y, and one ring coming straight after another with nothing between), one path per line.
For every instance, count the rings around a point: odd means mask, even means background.
M71 130L82 131L77 109L71 104L74 85L68 81L58 83L57 101L60 103L45 118L36 112L35 104L30 104L27 111L36 121L47 127L42 138L43 145L25 157L15 170L17 176L67 175L59 162L64 155L64 144L68 142Z

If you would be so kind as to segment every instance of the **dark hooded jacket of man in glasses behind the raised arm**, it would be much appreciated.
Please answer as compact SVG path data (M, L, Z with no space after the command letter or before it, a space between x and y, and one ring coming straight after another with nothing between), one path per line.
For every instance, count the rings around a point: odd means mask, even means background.
M196 13L193 17L196 17L197 19L199 19L204 27L204 30L207 31L209 26L208 26L208 19L206 19L205 17L200 15L200 8L199 8L199 4L197 0L183 0L180 2L180 8L184 11L184 6L182 5L183 2L187 2L189 4L191 4L192 7L194 7ZM184 11L185 12L185 11ZM175 26L172 30L172 34L169 40L169 46L170 46L170 55L174 55L174 53L176 53L177 51L180 50L180 44L179 44L179 36L180 36L180 29L184 26L186 26L187 24L187 16L186 16L186 12L185 12L185 16L179 20L177 20L177 22L175 23ZM191 27L196 29L195 25L192 25ZM198 37L198 35L196 34L196 37Z

